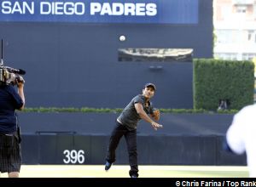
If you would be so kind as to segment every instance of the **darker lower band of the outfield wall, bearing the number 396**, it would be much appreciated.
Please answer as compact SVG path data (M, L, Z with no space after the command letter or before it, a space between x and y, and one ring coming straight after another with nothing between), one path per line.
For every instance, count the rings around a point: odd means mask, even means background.
M39 133L22 136L24 164L104 164L108 135ZM138 162L144 165L245 166L246 157L222 150L221 136L137 136ZM115 164L129 164L125 139Z

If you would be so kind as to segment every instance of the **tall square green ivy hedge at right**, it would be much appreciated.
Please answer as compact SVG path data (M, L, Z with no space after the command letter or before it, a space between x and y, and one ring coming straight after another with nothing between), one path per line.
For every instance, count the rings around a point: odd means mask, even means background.
M195 109L217 110L221 99L231 110L253 104L252 61L194 59L193 71Z

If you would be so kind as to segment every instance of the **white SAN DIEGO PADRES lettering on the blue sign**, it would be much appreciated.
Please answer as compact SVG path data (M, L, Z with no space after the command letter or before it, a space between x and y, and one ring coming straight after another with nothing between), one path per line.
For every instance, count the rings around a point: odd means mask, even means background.
M86 12L85 12L85 8ZM86 14L88 11L88 14ZM3 1L0 14L155 16L156 3L96 3L51 1Z

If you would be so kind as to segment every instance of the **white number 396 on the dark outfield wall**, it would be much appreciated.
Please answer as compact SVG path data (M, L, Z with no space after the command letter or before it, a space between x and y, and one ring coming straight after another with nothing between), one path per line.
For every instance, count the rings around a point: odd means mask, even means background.
M84 163L84 150L64 150L63 154L66 157L64 163Z

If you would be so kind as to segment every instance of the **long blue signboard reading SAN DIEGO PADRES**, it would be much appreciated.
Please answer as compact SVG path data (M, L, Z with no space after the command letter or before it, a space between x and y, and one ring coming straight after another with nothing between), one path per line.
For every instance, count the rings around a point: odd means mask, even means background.
M0 21L198 23L198 0L0 0L0 2Z

